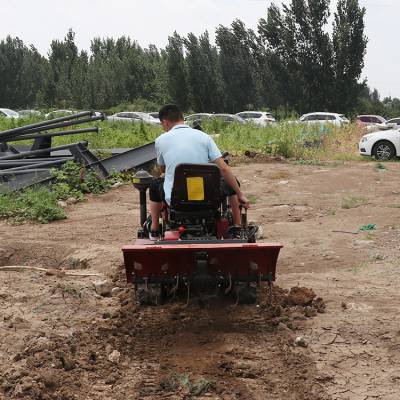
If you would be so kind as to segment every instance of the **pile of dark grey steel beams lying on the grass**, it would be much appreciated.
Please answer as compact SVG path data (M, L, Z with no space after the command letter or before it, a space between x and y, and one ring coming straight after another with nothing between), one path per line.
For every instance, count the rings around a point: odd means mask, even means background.
M51 146L51 138L55 136L98 132L98 128L49 131L103 119L103 114L96 116L93 111L87 111L0 132L0 194L47 183L52 179L50 169L60 168L70 160L91 168L100 179L106 179L112 172L152 165L157 158L154 142L118 152L103 160L90 152L87 142ZM9 144L27 139L35 140L28 151L21 151Z

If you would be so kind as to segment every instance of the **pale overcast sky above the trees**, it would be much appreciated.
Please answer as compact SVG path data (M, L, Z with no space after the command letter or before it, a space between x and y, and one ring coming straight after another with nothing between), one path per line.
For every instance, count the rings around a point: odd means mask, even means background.
M281 0L275 0L280 4ZM69 28L80 49L89 49L95 36L130 36L142 46L164 47L177 31L214 38L215 27L240 18L255 29L270 0L0 0L0 39L18 36L47 54L52 39L62 39ZM360 0L367 8L369 38L363 78L381 96L400 97L398 51L399 0ZM332 0L332 7L336 0Z

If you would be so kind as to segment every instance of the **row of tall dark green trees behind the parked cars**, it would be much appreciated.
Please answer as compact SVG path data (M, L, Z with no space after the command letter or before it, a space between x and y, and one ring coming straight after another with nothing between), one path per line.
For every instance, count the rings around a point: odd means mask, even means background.
M165 48L129 37L94 38L80 51L70 30L53 40L47 57L19 38L0 42L0 105L105 110L120 103L167 102L196 112L244 109L355 113L386 107L360 82L367 38L365 8L339 0L329 27L330 0L272 4L257 30L239 19L183 37Z

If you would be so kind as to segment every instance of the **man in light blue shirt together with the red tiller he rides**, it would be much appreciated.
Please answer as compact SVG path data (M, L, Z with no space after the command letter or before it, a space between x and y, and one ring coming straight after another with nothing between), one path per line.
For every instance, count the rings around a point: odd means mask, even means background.
M157 303L182 288L188 299L191 292L235 292L239 300L239 287L272 283L282 245L255 243L249 201L214 140L185 125L175 105L159 118L165 133L155 146L165 179L146 171L134 177L141 227L135 244L123 247L128 282L155 294Z

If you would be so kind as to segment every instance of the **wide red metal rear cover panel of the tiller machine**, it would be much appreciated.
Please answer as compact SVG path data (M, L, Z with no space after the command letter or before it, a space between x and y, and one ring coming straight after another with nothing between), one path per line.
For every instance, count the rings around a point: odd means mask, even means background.
M135 278L189 276L195 272L196 253L206 252L210 273L235 276L270 275L275 280L280 243L162 244L138 239L124 246L128 282Z

